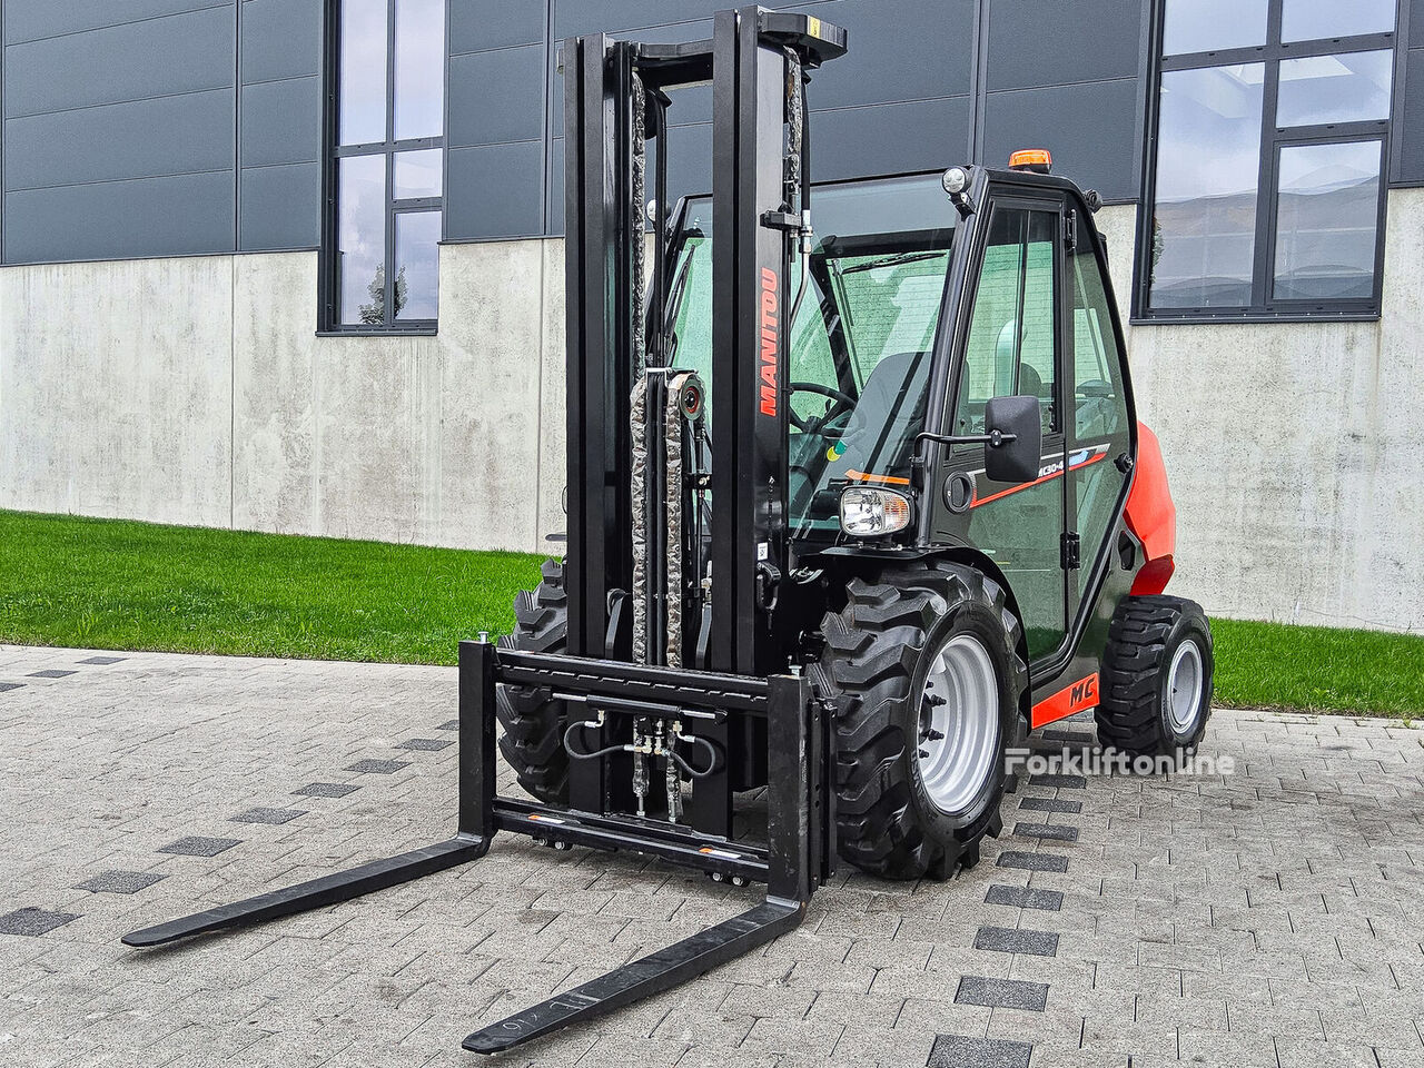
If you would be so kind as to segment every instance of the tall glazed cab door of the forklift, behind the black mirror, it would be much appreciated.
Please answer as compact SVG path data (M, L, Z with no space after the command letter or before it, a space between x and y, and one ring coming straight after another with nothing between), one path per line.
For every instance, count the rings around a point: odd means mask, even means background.
M1062 540L1064 204L1057 195L991 195L988 211L987 241L971 268L973 312L946 431L981 434L990 399L1034 396L1042 460L1037 480L1004 484L985 476L984 446L944 450L938 484L947 510L937 533L994 560L1018 600L1030 659L1041 661L1064 646L1069 629Z

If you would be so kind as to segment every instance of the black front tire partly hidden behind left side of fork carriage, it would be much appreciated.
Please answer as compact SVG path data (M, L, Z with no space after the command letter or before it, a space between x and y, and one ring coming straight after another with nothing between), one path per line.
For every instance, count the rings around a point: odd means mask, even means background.
M564 565L545 560L544 581L514 598L514 632L500 648L562 652L568 637L568 594ZM547 686L500 684L496 713L504 726L500 752L518 775L520 786L548 805L568 802L568 753L564 752L564 703Z

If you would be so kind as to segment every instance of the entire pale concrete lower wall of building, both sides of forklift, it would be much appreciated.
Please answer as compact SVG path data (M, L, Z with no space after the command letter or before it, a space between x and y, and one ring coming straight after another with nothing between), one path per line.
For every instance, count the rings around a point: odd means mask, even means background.
M1136 209L1105 208L1128 292ZM1424 191L1378 323L1134 326L1212 612L1424 629ZM564 530L558 239L447 245L434 337L318 337L316 255L0 268L0 507L541 551ZM1125 298L1122 298L1125 299Z

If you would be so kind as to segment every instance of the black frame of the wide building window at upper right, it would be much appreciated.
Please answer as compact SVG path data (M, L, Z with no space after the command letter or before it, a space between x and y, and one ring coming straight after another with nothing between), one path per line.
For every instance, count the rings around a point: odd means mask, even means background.
M1384 286L1386 219L1388 191L1396 168L1397 144L1394 118L1403 112L1405 50L1408 40L1408 4L1396 4L1393 33L1357 34L1310 41L1282 41L1284 0L1267 0L1266 43L1245 48L1163 56L1166 4L1152 4L1151 54L1142 152L1142 199L1136 225L1136 252L1132 271L1132 323L1263 323L1263 322L1373 322L1380 318ZM1286 60L1317 56L1344 56L1388 50L1393 57L1390 115L1381 120L1326 122L1309 127L1277 127L1280 104L1280 64ZM1256 229L1252 251L1252 300L1242 308L1152 308L1152 224L1156 216L1156 162L1159 145L1162 75L1180 70L1263 64L1262 130L1256 179ZM1276 241L1280 218L1280 150L1297 145L1333 145L1380 141L1380 194L1376 212L1374 279L1368 298L1333 298L1277 300L1272 296L1276 281Z

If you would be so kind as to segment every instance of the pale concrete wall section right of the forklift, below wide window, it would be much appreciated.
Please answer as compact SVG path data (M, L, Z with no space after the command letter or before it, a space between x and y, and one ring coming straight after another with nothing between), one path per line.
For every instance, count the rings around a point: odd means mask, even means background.
M1128 302L1136 208L1105 208ZM1424 191L1390 192L1373 323L1129 329L1178 506L1172 592L1220 615L1424 629Z

